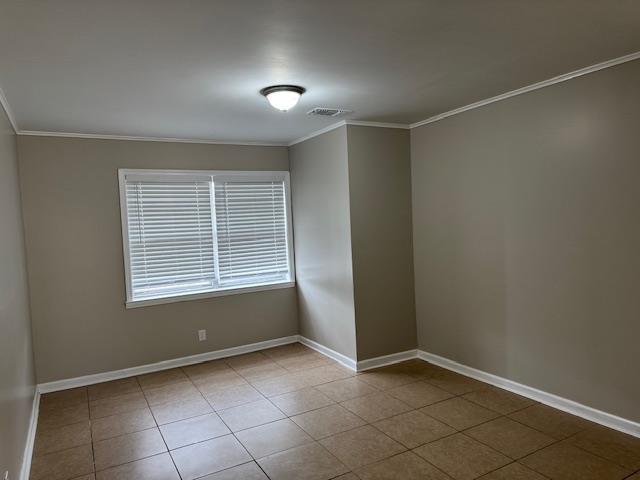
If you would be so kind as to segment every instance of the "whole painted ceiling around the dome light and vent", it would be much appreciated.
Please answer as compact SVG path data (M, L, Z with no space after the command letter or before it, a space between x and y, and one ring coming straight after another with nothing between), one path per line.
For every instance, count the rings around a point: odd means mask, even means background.
M287 143L413 123L640 50L638 0L0 0L21 130ZM258 90L307 88L288 113Z

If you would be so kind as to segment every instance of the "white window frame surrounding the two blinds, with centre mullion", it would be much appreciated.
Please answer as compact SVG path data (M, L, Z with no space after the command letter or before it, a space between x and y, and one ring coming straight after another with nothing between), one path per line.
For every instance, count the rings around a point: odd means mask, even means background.
M180 179L200 179L205 177L209 178L209 181L213 182L212 195L215 192L215 178L244 178L255 180L283 180L284 181L284 198L285 198L285 215L286 215L286 229L287 229L287 255L289 260L289 279L277 282L266 282L259 284L250 284L243 286L231 286L216 288L206 292L198 293L183 293L174 294L166 297L149 298L143 300L133 299L133 289L131 287L131 256L129 252L129 216L127 211L127 177L139 177L141 180L153 181L167 180L167 176L174 175L175 178ZM291 186L290 175L286 170L175 170L175 169L132 169L132 168L119 168L118 169L118 186L120 190L120 219L122 230L122 253L124 263L124 277L125 277L125 307L137 308L145 307L149 305L161 305L174 302L185 302L189 300L198 300L202 298L221 297L226 295L237 295L242 293L261 292L266 290L276 290L281 288L291 288L296 284L296 269L295 269L295 256L293 248L293 222L291 214ZM215 202L212 198L212 222L215 225ZM214 256L217 258L217 238L215 235L214 227ZM215 260L214 260L215 261ZM216 273L217 276L217 273Z

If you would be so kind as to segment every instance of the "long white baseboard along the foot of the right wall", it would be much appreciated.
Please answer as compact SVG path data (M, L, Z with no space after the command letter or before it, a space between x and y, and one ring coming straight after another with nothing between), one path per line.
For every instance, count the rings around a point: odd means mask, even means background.
M632 420L627 420L626 418L621 418L616 415L582 405L581 403L574 402L573 400L568 400L552 393L543 392L537 388L522 385L521 383L468 367L467 365L463 365L433 353L418 350L418 358L448 370L461 373L467 377L475 378L476 380L509 390L510 392L517 393L523 397L531 398L532 400L544 403L545 405L557 408L558 410L613 428L614 430L619 430L621 432L628 433L629 435L640 437L640 423L636 423Z

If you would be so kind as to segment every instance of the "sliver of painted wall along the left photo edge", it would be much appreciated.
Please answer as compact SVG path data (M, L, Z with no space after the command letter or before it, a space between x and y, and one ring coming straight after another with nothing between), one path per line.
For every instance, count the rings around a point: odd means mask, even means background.
M34 394L16 135L0 107L0 476L18 478Z

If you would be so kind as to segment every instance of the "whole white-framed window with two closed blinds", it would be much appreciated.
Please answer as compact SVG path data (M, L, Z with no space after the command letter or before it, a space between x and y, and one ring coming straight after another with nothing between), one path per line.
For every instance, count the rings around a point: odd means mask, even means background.
M288 172L119 179L128 307L293 285Z

